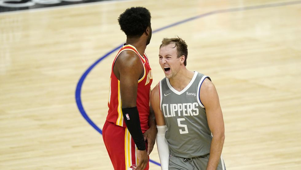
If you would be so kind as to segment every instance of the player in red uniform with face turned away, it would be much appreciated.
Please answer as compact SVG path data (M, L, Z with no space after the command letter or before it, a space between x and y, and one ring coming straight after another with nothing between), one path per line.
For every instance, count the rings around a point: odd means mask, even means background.
M150 114L152 73L144 53L151 41L151 14L132 7L118 21L127 41L112 64L104 144L115 170L148 170L157 133Z

